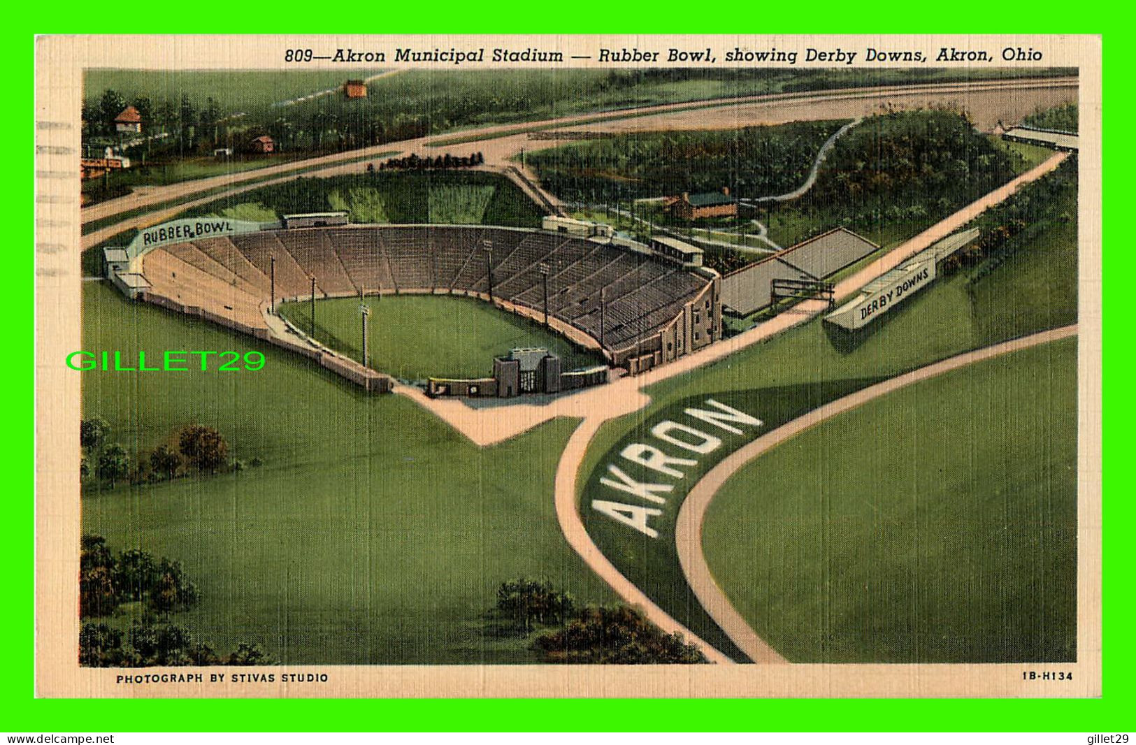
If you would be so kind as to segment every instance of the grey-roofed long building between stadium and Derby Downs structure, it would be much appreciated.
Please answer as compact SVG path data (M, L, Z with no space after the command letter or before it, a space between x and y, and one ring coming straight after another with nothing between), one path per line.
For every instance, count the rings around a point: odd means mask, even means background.
M847 228L821 233L727 274L721 279L721 303L740 316L747 316L772 302L774 281L824 279L878 249L879 245Z

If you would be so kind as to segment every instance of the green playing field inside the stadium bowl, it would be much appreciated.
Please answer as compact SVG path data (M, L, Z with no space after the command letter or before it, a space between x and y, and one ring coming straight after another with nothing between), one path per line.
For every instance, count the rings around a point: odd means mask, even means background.
M367 304L371 309L367 328L370 367L403 380L487 377L493 372L493 358L516 346L543 346L560 355L566 370L599 361L538 323L473 298L385 295L368 298ZM284 303L279 312L298 328L310 332L310 303ZM314 336L360 360L359 300L316 301Z

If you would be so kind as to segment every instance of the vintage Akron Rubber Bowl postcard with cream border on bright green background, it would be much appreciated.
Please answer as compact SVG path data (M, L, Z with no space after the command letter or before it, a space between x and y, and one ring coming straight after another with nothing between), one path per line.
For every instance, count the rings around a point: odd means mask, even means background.
M36 693L1101 694L1096 36L43 36Z

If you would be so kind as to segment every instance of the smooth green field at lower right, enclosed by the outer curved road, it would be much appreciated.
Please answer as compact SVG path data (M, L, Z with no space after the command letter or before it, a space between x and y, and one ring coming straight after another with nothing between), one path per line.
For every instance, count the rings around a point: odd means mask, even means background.
M799 435L722 486L702 539L793 662L1076 659L1076 340Z

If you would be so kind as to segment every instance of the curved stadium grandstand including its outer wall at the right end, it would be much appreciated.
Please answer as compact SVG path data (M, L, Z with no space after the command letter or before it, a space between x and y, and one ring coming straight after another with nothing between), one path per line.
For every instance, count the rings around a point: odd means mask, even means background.
M172 224L173 225L173 224ZM462 294L541 318L604 350L632 372L693 352L721 335L720 277L651 253L563 233L442 225L293 229L181 225L132 249L144 300L265 328L281 300L358 294ZM117 257L117 254L116 254ZM120 258L120 257L118 257Z

